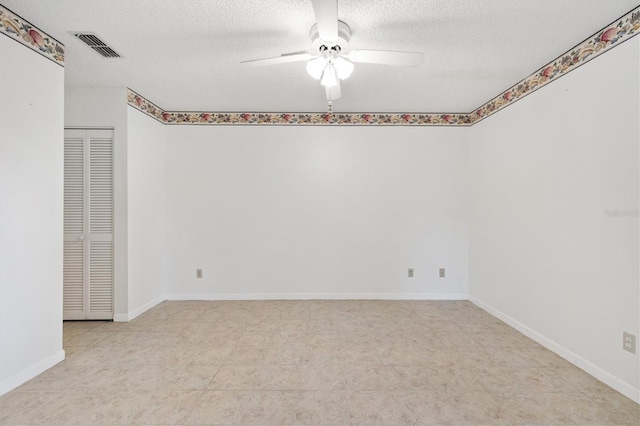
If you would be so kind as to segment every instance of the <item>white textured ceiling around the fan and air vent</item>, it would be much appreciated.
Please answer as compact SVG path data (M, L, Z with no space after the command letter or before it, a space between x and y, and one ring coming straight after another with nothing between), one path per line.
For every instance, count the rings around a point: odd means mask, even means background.
M172 111L322 111L304 63L309 0L0 0L66 47L69 87L131 87ZM416 68L356 64L334 111L470 112L639 5L637 0L341 0L349 48L425 54ZM98 34L105 59L70 33Z

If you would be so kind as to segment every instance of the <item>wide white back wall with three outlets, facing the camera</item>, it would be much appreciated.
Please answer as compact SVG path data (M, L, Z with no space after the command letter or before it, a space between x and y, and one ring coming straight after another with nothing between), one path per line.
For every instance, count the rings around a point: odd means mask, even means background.
M466 297L468 128L167 129L172 297Z

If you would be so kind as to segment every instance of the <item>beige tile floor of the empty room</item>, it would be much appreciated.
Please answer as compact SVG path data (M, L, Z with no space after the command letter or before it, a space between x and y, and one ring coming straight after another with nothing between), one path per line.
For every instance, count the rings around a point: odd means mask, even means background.
M640 406L469 302L164 302L66 322L0 424L640 424Z

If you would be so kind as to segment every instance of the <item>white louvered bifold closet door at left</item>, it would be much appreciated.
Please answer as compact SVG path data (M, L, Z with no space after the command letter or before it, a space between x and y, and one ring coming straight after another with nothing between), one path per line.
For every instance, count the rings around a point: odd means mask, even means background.
M65 130L64 319L113 318L113 131Z

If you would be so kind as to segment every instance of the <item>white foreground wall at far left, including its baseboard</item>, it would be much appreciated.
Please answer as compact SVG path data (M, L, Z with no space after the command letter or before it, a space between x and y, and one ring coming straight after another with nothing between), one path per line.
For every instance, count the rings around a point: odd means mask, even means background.
M64 69L0 36L0 394L64 359Z

